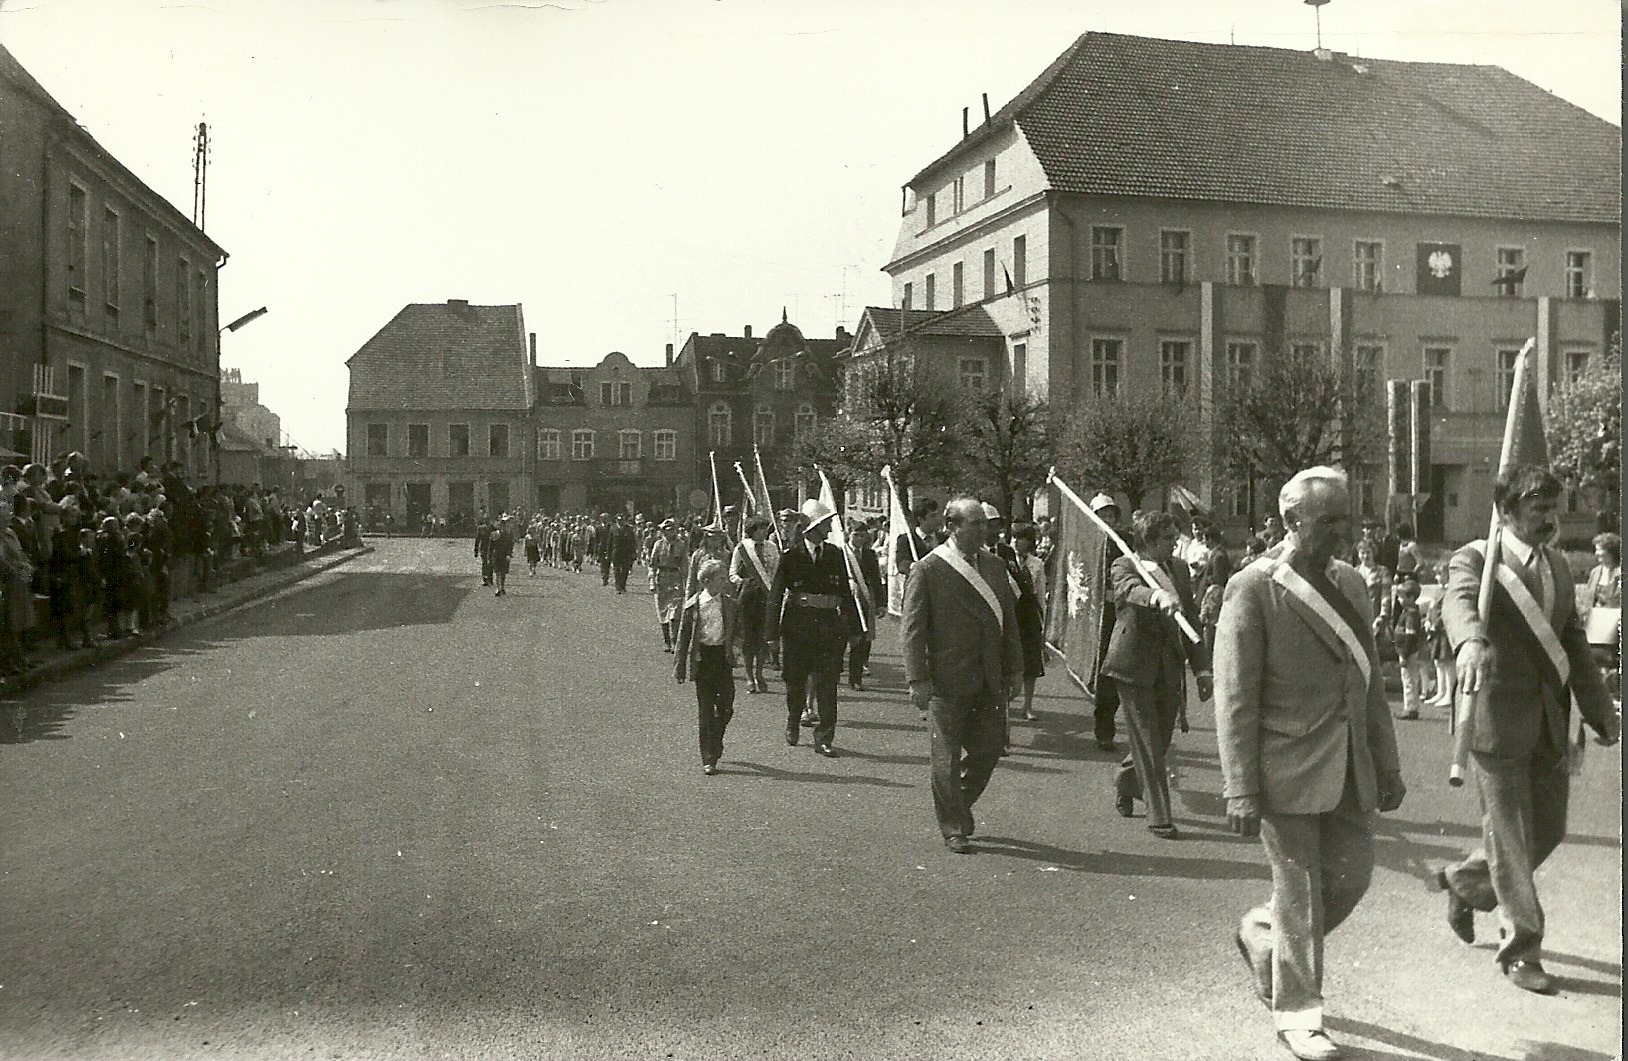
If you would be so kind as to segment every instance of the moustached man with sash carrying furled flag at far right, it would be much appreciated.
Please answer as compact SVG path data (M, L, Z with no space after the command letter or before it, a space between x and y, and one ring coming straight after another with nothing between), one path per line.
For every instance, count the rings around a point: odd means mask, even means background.
M1475 942L1475 911L1498 911L1498 963L1517 988L1555 991L1543 971L1543 908L1534 872L1566 835L1571 700L1615 744L1620 719L1578 620L1566 557L1545 545L1555 534L1560 480L1517 465L1493 487L1503 522L1491 612L1477 599L1486 544L1470 542L1447 568L1441 618L1465 695L1481 692L1470 719L1473 773L1481 797L1481 848L1436 874L1447 890L1447 923Z

